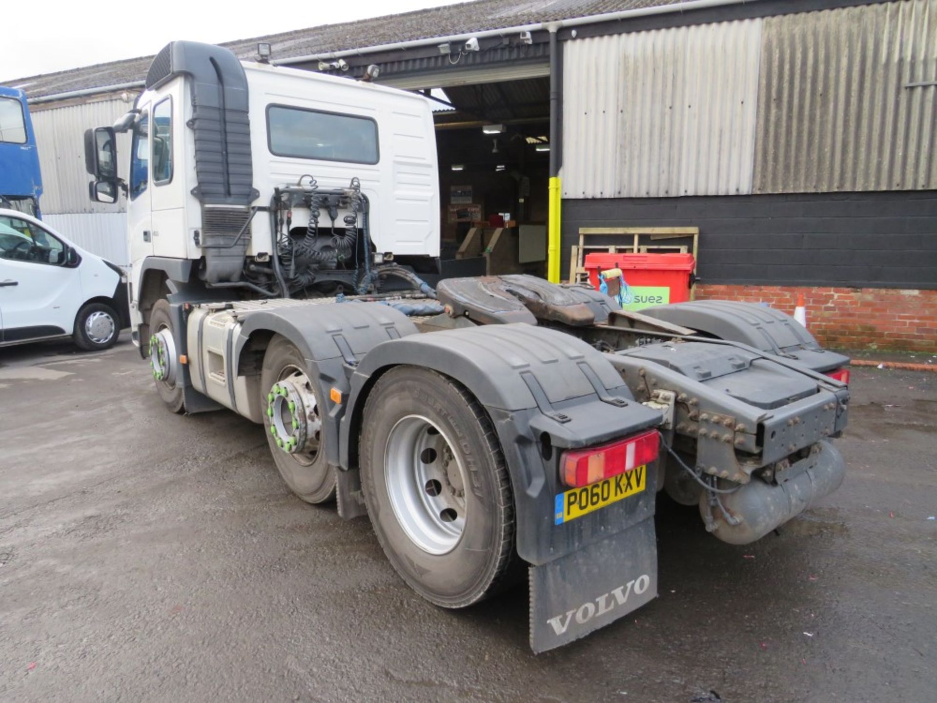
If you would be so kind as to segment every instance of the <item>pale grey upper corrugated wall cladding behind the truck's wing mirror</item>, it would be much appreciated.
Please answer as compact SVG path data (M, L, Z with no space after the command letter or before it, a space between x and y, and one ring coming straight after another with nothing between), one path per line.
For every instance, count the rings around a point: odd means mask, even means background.
M136 95L128 96L130 102L134 97ZM31 111L44 188L42 200L39 202L43 216L121 212L122 206L119 204L93 202L88 198L88 183L92 178L84 170L84 130L92 126L112 125L130 109L130 102L118 97L52 110ZM118 153L128 153L128 134L117 135L117 149ZM120 176L126 179L127 165L124 161L126 159L120 161L119 168Z

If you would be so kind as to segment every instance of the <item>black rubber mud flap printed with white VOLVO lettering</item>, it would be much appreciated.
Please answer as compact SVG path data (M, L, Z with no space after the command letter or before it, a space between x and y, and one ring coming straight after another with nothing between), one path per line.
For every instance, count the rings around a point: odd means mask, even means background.
M530 649L539 654L604 627L657 597L654 516L530 567Z

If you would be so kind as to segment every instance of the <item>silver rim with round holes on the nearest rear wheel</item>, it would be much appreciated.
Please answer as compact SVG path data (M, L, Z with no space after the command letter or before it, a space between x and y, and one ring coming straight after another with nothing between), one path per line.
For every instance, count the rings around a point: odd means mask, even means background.
M466 525L465 471L446 435L428 418L394 425L384 452L384 478L397 522L430 554L447 554Z

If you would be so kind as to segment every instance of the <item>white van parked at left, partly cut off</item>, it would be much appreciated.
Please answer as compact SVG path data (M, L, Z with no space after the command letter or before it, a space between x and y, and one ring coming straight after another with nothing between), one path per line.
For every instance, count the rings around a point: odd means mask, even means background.
M82 349L108 349L128 318L120 267L0 208L0 347L72 337Z

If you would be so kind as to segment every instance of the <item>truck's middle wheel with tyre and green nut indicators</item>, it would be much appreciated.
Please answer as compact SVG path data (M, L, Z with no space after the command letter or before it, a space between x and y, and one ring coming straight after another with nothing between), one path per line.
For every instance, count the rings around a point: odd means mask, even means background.
M316 385L305 359L289 339L275 336L260 370L261 407L276 469L290 490L306 502L335 498L335 471L325 456Z

